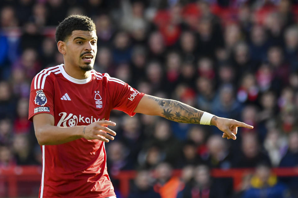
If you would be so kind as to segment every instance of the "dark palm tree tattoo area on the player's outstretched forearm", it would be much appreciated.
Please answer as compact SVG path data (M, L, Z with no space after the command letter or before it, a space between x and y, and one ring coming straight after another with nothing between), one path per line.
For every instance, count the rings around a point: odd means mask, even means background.
M175 100L151 96L149 98L158 102L161 114L164 118L179 123L200 124L204 111L197 110L196 108Z

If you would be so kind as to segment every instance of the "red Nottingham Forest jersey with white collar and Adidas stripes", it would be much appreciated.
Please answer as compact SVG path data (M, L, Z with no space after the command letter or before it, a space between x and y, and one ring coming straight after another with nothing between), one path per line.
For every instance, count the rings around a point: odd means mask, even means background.
M48 113L54 116L55 126L71 127L109 120L112 109L133 116L143 95L127 83L94 70L87 79L75 79L61 64L42 70L32 80L29 120ZM106 170L104 142L80 138L41 149L40 198L115 196Z

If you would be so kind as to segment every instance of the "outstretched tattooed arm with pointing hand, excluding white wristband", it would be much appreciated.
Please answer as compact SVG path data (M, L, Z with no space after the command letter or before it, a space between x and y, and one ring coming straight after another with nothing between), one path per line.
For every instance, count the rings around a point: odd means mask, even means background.
M204 111L179 101L145 95L134 110L135 113L158 115L179 123L200 124ZM236 139L237 127L253 128L236 120L213 116L210 122L223 131L223 138Z

